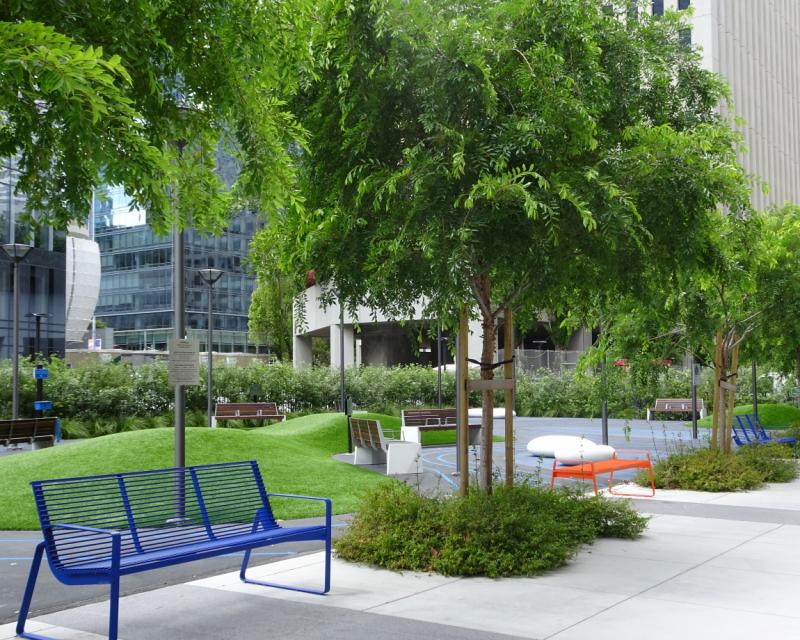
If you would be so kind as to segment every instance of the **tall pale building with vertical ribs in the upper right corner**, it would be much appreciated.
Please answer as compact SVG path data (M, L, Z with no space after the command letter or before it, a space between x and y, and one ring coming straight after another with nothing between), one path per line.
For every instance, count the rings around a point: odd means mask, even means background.
M654 13L692 8L691 43L731 87L744 168L769 186L753 206L800 203L800 2L654 0ZM687 34L688 35L688 34Z

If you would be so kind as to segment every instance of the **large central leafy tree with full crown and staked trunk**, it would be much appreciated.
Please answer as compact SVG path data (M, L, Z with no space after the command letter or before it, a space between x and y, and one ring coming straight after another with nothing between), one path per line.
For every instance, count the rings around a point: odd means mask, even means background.
M491 362L509 305L588 315L696 263L709 212L747 200L726 89L677 14L629 6L332 1L298 100L308 206L272 227L284 267L398 316L476 309Z

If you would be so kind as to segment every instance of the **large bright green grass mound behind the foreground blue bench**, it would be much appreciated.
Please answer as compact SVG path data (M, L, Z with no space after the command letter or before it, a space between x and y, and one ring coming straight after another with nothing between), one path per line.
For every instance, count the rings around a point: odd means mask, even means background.
M0 529L39 528L32 480L172 467L174 438L173 429L156 428L3 456ZM354 511L365 491L391 482L331 458L346 450L341 414L303 416L249 431L186 430L187 464L257 460L270 491L329 497L335 513ZM319 505L300 500L276 500L275 510L279 518L321 515Z

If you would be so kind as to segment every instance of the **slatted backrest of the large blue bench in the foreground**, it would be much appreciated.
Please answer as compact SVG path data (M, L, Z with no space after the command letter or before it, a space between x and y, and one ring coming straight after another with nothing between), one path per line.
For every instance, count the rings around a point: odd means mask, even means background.
M31 484L57 568L107 559L111 549L110 536L57 524L119 531L123 557L249 534L259 511L263 529L278 528L255 461Z

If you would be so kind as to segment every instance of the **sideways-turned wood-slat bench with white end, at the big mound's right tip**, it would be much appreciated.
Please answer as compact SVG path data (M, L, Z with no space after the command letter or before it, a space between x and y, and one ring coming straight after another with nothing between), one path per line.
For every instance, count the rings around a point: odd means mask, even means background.
M355 447L354 464L385 464L387 475L422 473L418 442L387 438L378 420L350 419Z

